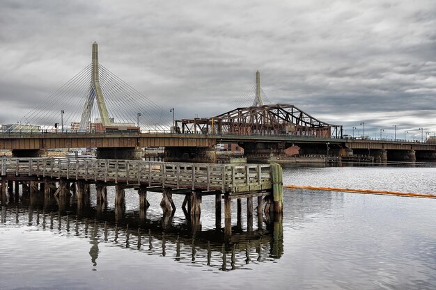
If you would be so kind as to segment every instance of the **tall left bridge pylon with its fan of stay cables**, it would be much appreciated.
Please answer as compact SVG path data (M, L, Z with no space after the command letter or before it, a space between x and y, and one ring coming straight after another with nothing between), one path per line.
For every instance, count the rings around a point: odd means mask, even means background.
M138 123L142 131L168 132L172 122L169 110L100 65L96 45L93 63L26 113L7 133L85 133L91 129L98 133L108 124L111 129L138 131Z

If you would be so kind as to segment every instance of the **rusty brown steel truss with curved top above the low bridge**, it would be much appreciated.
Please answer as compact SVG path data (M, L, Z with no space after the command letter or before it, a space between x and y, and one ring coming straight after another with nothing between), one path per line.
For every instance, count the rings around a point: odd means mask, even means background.
M182 134L342 137L341 125L322 122L289 104L249 106L213 118L177 120L176 130Z

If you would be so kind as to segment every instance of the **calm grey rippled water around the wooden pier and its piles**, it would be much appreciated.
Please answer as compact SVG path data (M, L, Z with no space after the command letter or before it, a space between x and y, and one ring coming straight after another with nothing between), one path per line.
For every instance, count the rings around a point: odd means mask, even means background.
M436 193L436 168L286 168L284 184ZM204 197L201 225L179 208L163 218L149 193L145 220L134 191L123 219L74 199L11 197L1 206L0 289L436 289L436 200L285 190L282 217L245 204L233 234L215 225ZM175 196L180 207L182 197ZM256 202L254 203L256 207ZM223 207L224 208L224 207ZM274 223L275 220L275 223ZM224 220L221 226L224 227Z

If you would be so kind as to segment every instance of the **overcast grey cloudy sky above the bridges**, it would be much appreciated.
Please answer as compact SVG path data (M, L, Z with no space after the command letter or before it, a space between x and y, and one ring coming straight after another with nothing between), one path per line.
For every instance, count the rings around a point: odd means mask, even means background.
M254 86L273 103L390 138L436 131L436 2L0 1L0 122L20 120L91 63L176 118ZM355 131L355 134L357 134ZM433 133L431 133L433 136Z

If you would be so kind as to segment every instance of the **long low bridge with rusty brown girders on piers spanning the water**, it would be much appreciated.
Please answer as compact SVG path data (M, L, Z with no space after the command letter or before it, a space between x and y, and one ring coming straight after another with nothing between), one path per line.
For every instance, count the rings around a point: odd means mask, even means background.
M371 155L377 161L426 161L436 159L436 144L411 140L359 140L290 135L236 134L0 134L0 150L13 156L43 156L56 148L97 148L100 159L140 159L143 147L165 147L166 161L216 162L215 145L238 143L250 161L283 156L298 146L301 155Z

